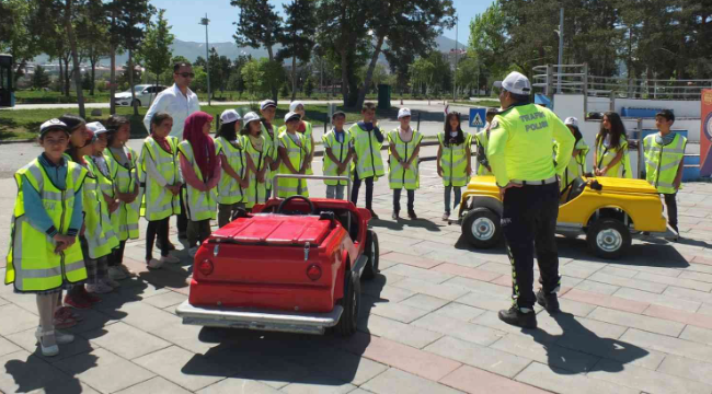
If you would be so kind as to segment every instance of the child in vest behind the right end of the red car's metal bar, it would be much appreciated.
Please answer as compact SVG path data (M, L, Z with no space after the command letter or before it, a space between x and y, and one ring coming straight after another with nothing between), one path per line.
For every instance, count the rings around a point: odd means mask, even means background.
M348 164L354 155L352 135L344 130L346 114L337 111L332 115L331 123L334 128L322 136L324 144L324 175L349 176ZM344 198L345 181L324 181L326 184L326 198Z

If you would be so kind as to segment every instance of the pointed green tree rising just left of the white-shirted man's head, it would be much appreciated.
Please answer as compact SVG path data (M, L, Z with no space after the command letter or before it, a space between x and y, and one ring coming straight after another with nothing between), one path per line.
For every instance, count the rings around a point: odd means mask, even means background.
M138 57L143 62L147 71L156 76L156 86L159 85L159 76L171 68L171 45L175 36L171 33L168 21L163 18L165 10L158 11L158 20L146 26L146 38L138 47Z

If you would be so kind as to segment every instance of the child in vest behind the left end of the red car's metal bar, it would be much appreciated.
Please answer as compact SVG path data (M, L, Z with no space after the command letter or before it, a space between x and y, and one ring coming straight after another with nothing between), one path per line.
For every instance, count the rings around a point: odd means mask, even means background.
M301 117L290 112L285 115L285 130L279 134L279 174L301 174L307 172L309 152L307 151L307 138L297 132L297 126ZM307 179L279 178L279 197L290 196L309 197Z

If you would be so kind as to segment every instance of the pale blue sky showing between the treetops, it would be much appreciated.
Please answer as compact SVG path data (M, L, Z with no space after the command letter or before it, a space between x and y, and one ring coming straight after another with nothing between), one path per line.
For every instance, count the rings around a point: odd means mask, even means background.
M291 0L271 0L275 9L283 11L283 4ZM347 1L347 0L344 0ZM460 18L459 40L467 43L469 35L470 20L483 12L492 0L453 0L455 8ZM208 13L210 20L210 42L231 42L237 21L238 9L230 5L230 0L151 0L151 4L159 9L165 9L165 16L173 26L172 33L181 40L204 42L205 27L198 25L199 19ZM445 33L449 38L455 39L455 28Z

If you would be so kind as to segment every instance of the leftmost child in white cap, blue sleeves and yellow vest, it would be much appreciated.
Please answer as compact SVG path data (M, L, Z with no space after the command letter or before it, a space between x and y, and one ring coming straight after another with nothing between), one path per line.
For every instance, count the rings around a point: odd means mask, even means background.
M69 127L59 119L39 127L44 152L18 170L18 197L11 222L5 283L35 293L39 326L35 337L43 356L59 354L73 335L57 331L55 309L62 288L87 279L77 235L82 227L81 188L87 170L67 160ZM9 318L9 316L5 316Z

